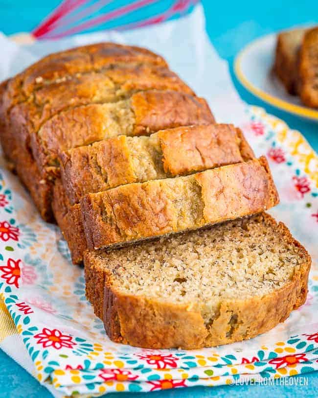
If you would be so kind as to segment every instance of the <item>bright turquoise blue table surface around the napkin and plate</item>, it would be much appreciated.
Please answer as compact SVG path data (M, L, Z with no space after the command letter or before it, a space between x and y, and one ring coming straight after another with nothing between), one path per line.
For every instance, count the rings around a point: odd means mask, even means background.
M2 0L0 1L0 30L6 34L30 31L60 0ZM110 9L132 2L114 0ZM318 124L305 121L268 105L246 91L237 81L233 72L233 60L239 50L257 37L303 23L318 23L318 1L302 0L267 0L260 5L255 1L211 1L202 0L206 29L219 54L227 59L231 77L241 97L248 103L262 106L283 120L293 129L299 130L310 144L318 151ZM138 20L165 9L171 1L161 0L143 11L122 18L122 23ZM112 23L109 26L111 27ZM220 386L194 387L164 392L153 392L153 398L177 397L263 397L280 396L318 397L318 372L308 374L308 386ZM143 394L121 393L120 397L145 397ZM51 394L16 362L0 350L0 398L49 398ZM107 397L115 397L114 394Z

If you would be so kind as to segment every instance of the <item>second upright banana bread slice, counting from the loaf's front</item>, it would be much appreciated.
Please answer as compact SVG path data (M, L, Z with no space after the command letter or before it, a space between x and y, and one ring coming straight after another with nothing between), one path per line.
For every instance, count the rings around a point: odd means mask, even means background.
M135 125L136 126L136 125ZM87 193L191 174L254 157L242 132L213 124L118 136L61 154L61 177L71 204Z

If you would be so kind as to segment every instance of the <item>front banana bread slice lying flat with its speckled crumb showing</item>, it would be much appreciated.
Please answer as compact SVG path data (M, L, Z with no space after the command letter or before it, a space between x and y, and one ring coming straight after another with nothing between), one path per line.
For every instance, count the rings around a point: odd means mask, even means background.
M197 349L250 339L304 304L311 258L266 213L86 252L86 295L118 343Z

